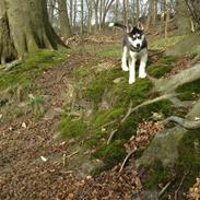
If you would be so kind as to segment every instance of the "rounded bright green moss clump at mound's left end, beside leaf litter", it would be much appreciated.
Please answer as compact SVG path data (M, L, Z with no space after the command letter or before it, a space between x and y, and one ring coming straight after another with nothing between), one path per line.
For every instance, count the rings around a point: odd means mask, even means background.
M81 138L87 131L87 126L82 119L63 116L58 129L63 138Z

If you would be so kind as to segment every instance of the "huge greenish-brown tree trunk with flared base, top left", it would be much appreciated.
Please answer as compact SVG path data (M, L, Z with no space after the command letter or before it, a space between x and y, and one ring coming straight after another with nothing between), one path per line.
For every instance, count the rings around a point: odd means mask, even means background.
M46 0L0 1L1 64L38 48L63 45L48 21Z

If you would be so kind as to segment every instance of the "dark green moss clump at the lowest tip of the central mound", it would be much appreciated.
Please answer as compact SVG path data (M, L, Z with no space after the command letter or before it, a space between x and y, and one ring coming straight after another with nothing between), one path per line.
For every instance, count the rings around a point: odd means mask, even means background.
M110 144L103 144L93 154L94 157L103 160L105 168L110 168L120 162L126 155L123 142L116 140Z

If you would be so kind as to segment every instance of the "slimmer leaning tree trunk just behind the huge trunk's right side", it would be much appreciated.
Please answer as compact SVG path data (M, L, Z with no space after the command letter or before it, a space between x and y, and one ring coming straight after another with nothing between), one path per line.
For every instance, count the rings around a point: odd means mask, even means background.
M72 35L71 25L67 11L66 0L58 0L60 34L62 37L68 38Z

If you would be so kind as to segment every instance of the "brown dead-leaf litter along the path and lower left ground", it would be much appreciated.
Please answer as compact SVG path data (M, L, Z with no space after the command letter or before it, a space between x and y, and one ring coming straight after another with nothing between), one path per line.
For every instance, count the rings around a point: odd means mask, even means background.
M121 173L117 164L97 176L83 175L79 167L74 170L66 167L79 152L70 149L75 142L73 139L58 137L58 123L70 95L67 89L74 81L72 70L91 60L96 63L113 60L120 64L120 58L116 61L84 50L69 51L62 64L48 67L33 81L31 90L43 89L35 95L44 96L45 114L36 119L33 109L17 117L10 110L10 118L1 121L0 199L129 200L133 191L141 190L134 162L129 162ZM0 120L3 117L0 113ZM84 141L79 142L81 145Z

